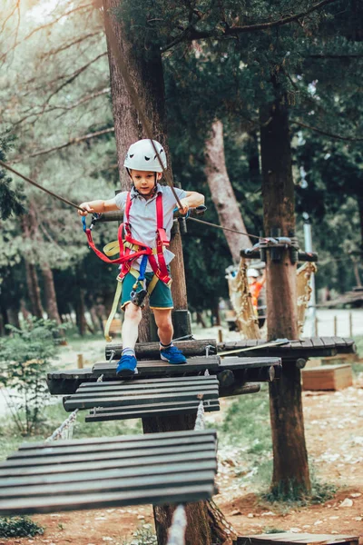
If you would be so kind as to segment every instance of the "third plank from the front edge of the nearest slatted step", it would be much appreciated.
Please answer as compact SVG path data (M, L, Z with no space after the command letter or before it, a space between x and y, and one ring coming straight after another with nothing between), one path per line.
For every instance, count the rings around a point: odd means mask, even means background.
M152 467L152 475L164 475L165 473L183 473L185 471L217 471L217 460L198 460L198 461L183 461L181 463L159 464ZM136 466L131 468L120 468L114 470L93 470L75 472L75 473L59 473L54 475L28 475L23 477L8 477L0 478L0 487L25 487L30 485L46 485L67 483L74 481L99 481L100 479L121 479L121 478L140 478L150 475L151 468L149 466Z

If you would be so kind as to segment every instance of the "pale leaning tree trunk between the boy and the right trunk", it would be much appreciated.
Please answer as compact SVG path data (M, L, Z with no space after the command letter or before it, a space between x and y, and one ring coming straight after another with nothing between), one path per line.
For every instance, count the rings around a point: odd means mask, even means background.
M240 207L227 173L224 158L223 124L215 121L211 125L211 138L205 144L205 173L211 189L211 198L218 212L222 227L246 233ZM240 263L240 249L250 248L250 237L244 234L224 231L234 263Z

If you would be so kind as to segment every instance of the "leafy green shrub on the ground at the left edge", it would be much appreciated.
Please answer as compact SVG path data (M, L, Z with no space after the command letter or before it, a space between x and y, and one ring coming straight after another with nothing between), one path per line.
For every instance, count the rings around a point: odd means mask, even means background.
M8 404L15 424L25 435L34 432L48 401L45 373L57 352L59 326L50 320L25 322L22 329L8 326L0 340L0 382L11 389Z

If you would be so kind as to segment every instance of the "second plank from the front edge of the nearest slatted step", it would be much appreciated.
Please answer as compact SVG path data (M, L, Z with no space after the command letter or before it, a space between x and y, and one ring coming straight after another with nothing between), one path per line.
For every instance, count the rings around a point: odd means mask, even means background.
M6 487L0 489L0 501L13 498L36 498L39 496L52 497L54 495L72 495L74 498L81 494L95 494L110 492L152 490L154 488L171 486L188 486L211 484L214 481L215 471L187 471L175 475L143 475L132 479L100 479L99 481L74 481L51 485L30 485L27 487Z

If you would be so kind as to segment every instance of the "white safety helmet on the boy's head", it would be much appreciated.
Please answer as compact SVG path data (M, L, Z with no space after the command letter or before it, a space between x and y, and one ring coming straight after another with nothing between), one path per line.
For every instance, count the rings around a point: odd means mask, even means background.
M160 164L157 154L153 149L152 142L155 144L158 154L162 160ZM152 173L162 173L162 166L164 169L167 167L165 151L162 144L156 142L156 140L138 140L134 144L131 144L129 151L126 154L123 166L127 169L143 170Z

